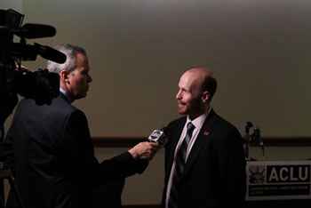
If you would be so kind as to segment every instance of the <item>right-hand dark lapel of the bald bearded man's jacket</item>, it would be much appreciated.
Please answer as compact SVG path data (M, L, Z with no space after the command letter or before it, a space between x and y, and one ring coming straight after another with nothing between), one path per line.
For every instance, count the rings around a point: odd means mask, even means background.
M191 166L195 163L196 157L199 156L200 150L206 144L206 140L210 138L212 131L211 127L215 116L215 112L211 109L210 115L207 116L206 120L204 121L203 126L195 140L195 144L192 147L189 156L187 157L187 163L183 176L187 175L187 172L189 172Z

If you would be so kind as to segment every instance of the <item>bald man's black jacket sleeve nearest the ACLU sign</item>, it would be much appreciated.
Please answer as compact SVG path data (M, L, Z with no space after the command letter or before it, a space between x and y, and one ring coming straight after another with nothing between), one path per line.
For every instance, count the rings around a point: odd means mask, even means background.
M223 205L243 207L246 177L242 137L232 128L219 142L219 177L224 197Z

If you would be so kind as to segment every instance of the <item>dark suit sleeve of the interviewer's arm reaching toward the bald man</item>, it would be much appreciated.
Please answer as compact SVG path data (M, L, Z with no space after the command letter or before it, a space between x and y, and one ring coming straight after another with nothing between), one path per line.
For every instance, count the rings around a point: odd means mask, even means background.
M142 172L146 168L144 162L133 159L128 152L100 164L94 156L87 119L79 110L68 116L68 121L64 126L64 135L57 147L64 167L80 180L91 179L98 182L99 180L120 179Z

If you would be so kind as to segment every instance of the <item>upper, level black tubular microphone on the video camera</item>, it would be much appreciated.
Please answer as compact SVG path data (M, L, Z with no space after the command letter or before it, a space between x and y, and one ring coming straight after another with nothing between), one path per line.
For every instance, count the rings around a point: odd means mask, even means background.
M40 38L47 36L55 36L56 28L43 24L25 24L19 29L12 31L17 36L26 37L28 39Z

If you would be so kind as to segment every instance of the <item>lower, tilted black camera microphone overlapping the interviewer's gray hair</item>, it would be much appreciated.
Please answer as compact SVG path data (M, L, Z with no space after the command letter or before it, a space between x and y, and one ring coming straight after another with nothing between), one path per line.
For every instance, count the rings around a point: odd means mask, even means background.
M34 44L36 47L36 52L42 56L46 60L52 60L56 63L65 63L67 57L64 53L59 52L53 49L50 46L42 45L42 44Z

